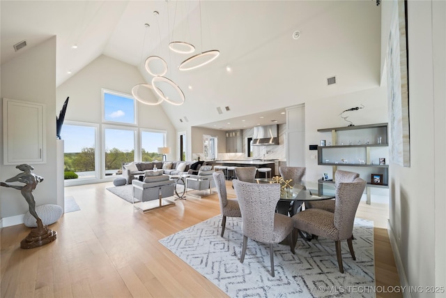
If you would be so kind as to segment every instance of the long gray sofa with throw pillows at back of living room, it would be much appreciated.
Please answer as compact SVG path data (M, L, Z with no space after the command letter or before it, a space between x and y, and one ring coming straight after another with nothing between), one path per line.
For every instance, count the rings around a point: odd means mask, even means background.
M153 170L156 165L162 174L175 175L180 172L187 174L197 174L201 165L206 164L203 161L133 161L132 163L123 163L123 178L127 184L132 184L135 176L144 174L145 171Z

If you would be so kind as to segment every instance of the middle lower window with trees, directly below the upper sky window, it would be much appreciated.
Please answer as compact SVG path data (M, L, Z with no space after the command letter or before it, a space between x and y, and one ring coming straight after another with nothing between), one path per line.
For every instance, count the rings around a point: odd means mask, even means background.
M136 128L104 129L103 137L105 144L105 176L119 173L123 163L135 161L135 134Z

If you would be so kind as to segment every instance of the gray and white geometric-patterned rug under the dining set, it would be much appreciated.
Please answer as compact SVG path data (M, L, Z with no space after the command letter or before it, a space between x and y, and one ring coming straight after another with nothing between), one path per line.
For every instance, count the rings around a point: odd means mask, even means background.
M339 272L334 241L299 237L295 255L289 246L273 246L275 277L270 275L269 246L249 239L242 264L241 218L226 218L224 237L221 223L218 215L160 243L229 297L375 297L373 221L355 218L355 261L347 241L341 241L344 274Z

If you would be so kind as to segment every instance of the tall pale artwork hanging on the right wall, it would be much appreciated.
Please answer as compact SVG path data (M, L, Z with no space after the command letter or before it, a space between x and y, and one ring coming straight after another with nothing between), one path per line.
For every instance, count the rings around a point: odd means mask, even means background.
M398 1L387 47L390 161L410 167L406 1Z

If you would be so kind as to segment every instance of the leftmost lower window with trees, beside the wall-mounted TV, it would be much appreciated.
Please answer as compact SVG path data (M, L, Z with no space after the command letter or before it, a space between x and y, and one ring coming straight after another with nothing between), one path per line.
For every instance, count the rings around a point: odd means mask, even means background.
M98 176L97 124L80 124L66 121L61 131L65 172L75 172L77 179L92 179ZM75 175L66 174L65 179Z

